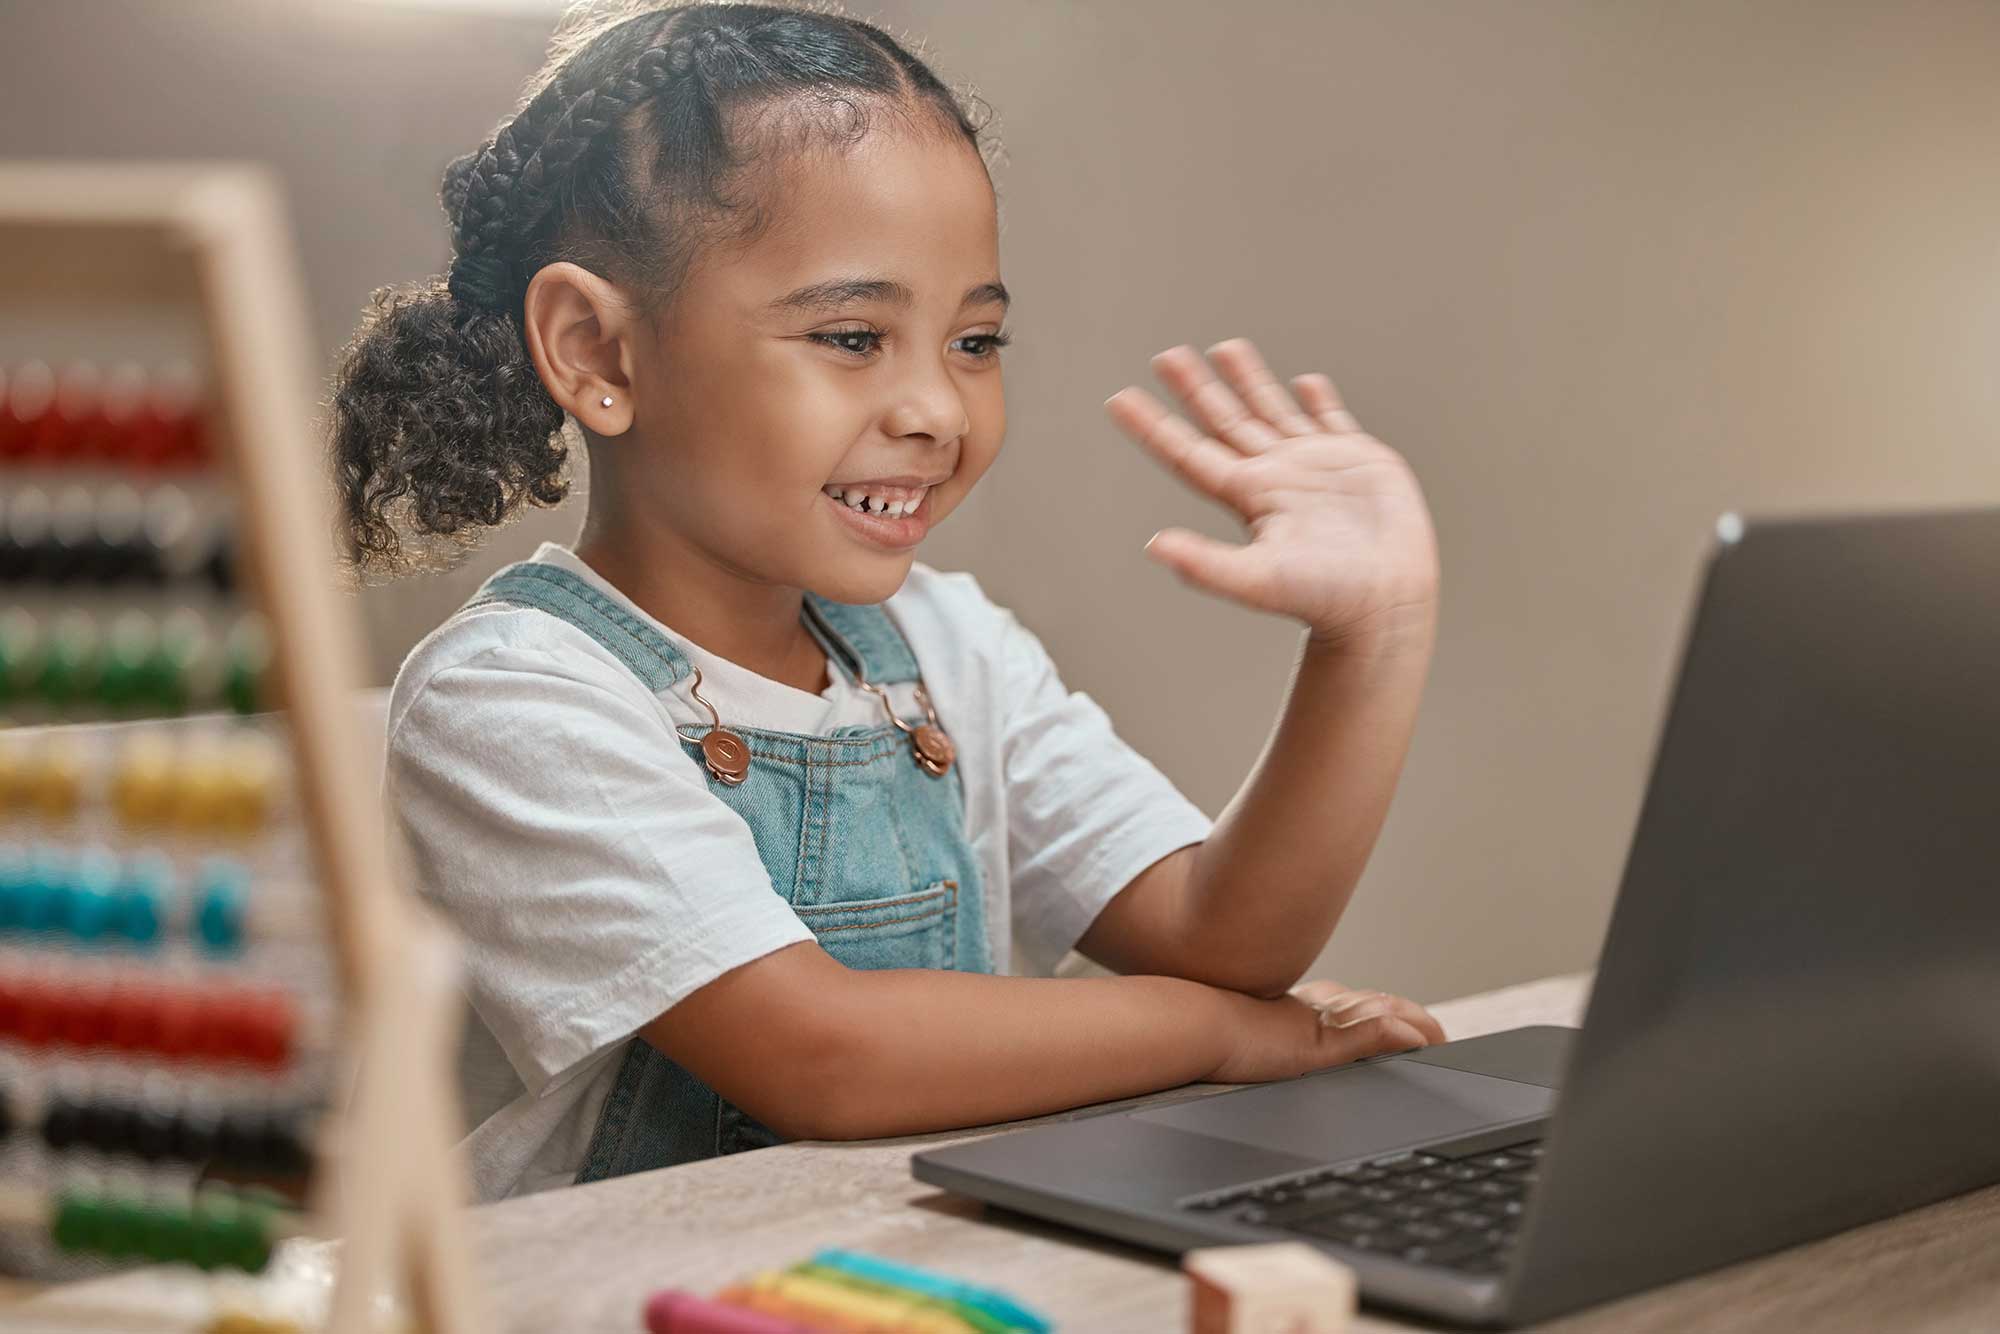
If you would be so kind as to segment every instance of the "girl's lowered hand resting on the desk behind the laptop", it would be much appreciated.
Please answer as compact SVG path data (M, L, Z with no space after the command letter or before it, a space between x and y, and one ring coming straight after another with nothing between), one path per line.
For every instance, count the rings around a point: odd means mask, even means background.
M1218 994L1230 1006L1230 1052L1208 1074L1218 1084L1288 1080L1446 1040L1438 1020L1414 1000L1340 982L1300 982L1274 1000Z

